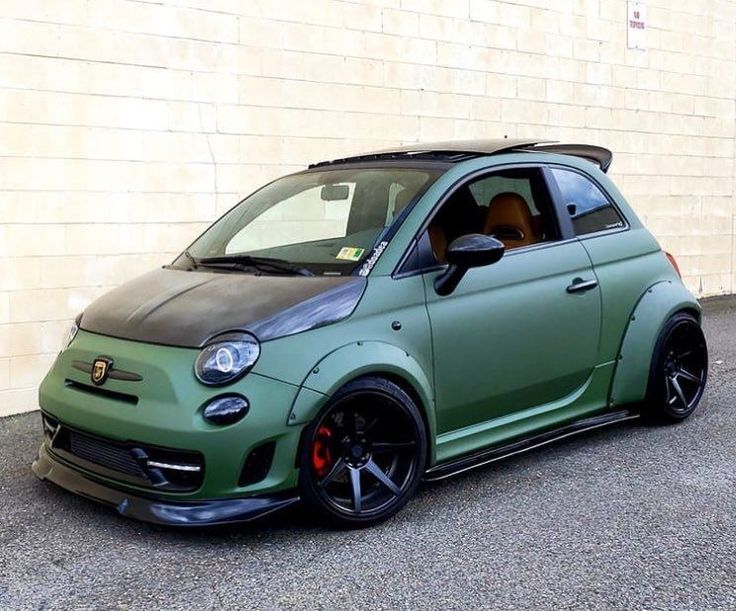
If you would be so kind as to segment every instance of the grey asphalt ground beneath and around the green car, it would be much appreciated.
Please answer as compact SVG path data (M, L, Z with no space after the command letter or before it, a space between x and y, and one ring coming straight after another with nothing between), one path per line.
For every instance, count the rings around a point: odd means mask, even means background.
M706 396L438 484L332 531L294 509L173 530L39 482L38 413L0 420L0 608L736 608L736 299L706 303Z

